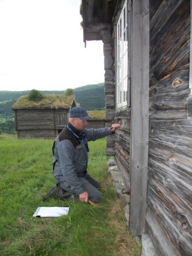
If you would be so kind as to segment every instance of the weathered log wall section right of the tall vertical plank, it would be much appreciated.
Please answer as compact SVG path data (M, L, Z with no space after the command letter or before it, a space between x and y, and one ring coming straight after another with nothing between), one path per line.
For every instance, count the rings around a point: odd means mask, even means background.
M190 1L150 0L146 230L159 255L192 255Z

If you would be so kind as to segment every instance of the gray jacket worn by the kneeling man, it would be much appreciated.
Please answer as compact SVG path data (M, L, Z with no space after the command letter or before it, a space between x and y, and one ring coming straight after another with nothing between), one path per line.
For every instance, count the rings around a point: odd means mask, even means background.
M62 132L64 134L69 133L67 130L65 128ZM86 142L94 141L113 133L109 127L85 129L84 140ZM75 135L71 135L73 139ZM78 144L74 146L70 137L65 136L65 139L61 140L58 135L53 147L53 162L54 177L57 183L61 183L62 187L73 189L76 194L81 194L85 191L85 188L79 177L85 176L88 154L85 144L82 141L79 142L79 140Z

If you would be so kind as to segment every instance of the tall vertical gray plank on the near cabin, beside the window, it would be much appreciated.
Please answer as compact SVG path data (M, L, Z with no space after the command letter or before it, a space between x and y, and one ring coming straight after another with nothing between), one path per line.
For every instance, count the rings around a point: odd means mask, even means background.
M149 0L133 1L130 234L145 233L149 138Z

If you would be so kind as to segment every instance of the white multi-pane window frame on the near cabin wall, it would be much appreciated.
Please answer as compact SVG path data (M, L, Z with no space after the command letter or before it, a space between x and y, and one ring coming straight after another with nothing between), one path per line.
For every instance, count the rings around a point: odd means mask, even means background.
M124 40L124 38L126 40ZM123 43L124 42L124 43ZM116 24L116 108L127 107L128 97L128 4L125 0Z

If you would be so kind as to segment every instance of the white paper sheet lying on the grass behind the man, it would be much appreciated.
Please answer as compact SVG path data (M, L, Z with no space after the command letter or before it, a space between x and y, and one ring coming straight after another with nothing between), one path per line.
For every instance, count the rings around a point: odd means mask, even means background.
M38 207L33 217L60 217L67 215L70 207Z

